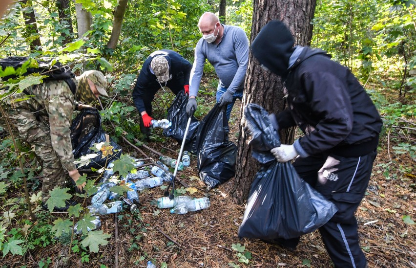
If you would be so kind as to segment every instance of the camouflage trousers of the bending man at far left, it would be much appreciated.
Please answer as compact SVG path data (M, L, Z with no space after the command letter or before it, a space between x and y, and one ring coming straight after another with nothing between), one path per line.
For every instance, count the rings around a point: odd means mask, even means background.
M45 202L50 196L49 191L55 186L64 186L66 174L52 148L49 124L47 121L38 121L35 114L26 109L12 108L4 103L1 106L6 113L13 135L27 142L43 161L42 201ZM5 118L1 114L0 126L7 132L9 131Z

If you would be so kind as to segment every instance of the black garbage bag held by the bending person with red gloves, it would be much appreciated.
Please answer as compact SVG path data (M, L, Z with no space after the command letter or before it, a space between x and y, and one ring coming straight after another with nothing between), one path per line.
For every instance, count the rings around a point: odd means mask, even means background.
M170 128L163 131L166 137L174 138L179 143L182 143L185 130L187 128L188 115L187 115L187 103L188 96L184 90L181 90L173 100L172 105L167 108L167 120L172 122ZM196 151L196 133L198 130L199 121L193 115L188 129L187 138L185 140L184 149L195 153Z

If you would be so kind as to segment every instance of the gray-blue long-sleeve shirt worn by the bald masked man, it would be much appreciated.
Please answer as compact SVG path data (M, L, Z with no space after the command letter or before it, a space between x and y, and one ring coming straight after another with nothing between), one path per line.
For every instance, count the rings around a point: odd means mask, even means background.
M231 92L244 87L249 62L249 40L242 28L221 25L224 26L224 35L218 45L208 44L203 38L196 44L195 60L189 79L189 96L198 94L206 59L215 68L222 87Z

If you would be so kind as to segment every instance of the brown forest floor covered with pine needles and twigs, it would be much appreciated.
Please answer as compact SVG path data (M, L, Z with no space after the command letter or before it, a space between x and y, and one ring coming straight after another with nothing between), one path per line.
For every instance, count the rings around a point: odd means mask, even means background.
M209 109L215 100L206 98L205 106ZM235 143L240 106L237 101L230 120L229 138ZM409 154L395 154L392 150L395 142L389 141L386 135L381 138L366 195L356 211L360 245L369 267L416 267L416 226L402 219L408 215L416 220L415 161ZM133 148L120 144L124 153L141 157ZM177 156L163 147L177 151L180 147L172 139L151 141L147 145L171 157ZM156 155L149 156L156 158ZM259 240L239 239L238 228L245 205L236 204L230 194L234 179L207 193L204 183L198 179L196 163L196 156L191 157L191 165L178 175L197 189L192 197L209 196L209 208L185 215L170 214L169 209L158 209L152 204L152 200L164 196L164 190L147 189L140 193L139 214L128 210L118 214L117 239L114 215L100 217L102 230L111 234L110 242L100 246L99 253L91 253L87 261L80 253L73 253L74 250L68 259L64 258L69 247L52 243L30 250L23 257L4 258L0 264L38 267L41 259L50 258L49 267L115 267L116 260L119 267L146 267L148 260L158 268L332 267L318 231L302 236L294 251ZM181 185L177 183L177 187ZM65 217L60 213L53 216Z

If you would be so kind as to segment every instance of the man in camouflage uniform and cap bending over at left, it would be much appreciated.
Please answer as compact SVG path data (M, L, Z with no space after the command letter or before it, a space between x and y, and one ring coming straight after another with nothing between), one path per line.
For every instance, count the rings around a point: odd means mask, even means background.
M70 138L72 113L75 109L80 111L90 107L83 103L94 101L99 95L108 97L107 81L100 71L85 71L73 81L77 88L75 95L63 80L45 81L24 90L27 95L32 95L28 99L14 102L13 99L23 97L24 93L20 93L1 103L7 118L0 117L0 126L8 130L7 119L13 135L30 144L43 162L43 204L49 198L50 190L65 184L64 170L74 183L80 178ZM84 186L85 183L76 190L83 191Z

